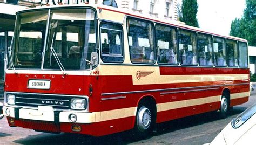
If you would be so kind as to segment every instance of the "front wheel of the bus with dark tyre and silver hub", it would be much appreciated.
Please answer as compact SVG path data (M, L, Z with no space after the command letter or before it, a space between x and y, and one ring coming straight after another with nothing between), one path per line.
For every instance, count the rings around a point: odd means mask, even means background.
M136 123L133 129L134 139L143 139L150 135L156 122L152 107L143 102L138 106Z

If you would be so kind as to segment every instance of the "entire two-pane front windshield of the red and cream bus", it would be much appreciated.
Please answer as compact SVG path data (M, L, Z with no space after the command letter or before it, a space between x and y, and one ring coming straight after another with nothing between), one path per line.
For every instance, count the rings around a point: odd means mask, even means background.
M90 68L91 53L97 52L93 10L57 9L49 16L48 10L25 12L17 15L16 25L15 68Z

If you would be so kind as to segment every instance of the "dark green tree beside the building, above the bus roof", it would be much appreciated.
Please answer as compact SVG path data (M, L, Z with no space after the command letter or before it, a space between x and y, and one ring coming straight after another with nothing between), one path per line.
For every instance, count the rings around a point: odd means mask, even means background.
M178 10L179 11L179 10ZM197 0L182 0L181 12L179 20L185 22L186 25L199 27L197 20L198 4Z

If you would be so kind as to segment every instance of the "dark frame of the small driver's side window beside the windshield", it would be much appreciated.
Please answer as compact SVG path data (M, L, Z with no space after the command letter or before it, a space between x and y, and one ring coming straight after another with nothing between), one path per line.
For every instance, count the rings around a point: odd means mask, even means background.
M111 31L119 31L119 32L121 32L121 38L120 38L120 43L121 43L121 49L120 49L120 51L121 51L121 56L123 56L123 60L122 61L105 61L105 60L103 60L103 57L104 57L104 55L103 55L103 51L102 51L102 25L104 25L104 24L107 24L107 25L116 25L116 26L118 26L118 27L120 27L121 28L121 30L115 30L115 29L105 29L105 30L111 30ZM103 28L104 29L104 28ZM100 48L100 59L102 59L102 61L104 62L104 63L123 63L124 62L124 60L125 60L125 53L124 53L124 29L123 29L123 26L121 25L121 24L118 24L118 23L112 23L112 22L105 22L105 21L102 21L102 22L100 22L100 24L99 24L99 48ZM109 56L109 57L111 57L111 55ZM114 57L114 56L113 56Z

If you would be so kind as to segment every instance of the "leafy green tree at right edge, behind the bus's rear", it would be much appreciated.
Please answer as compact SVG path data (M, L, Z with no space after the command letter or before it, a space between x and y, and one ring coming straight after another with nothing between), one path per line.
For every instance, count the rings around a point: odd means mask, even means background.
M249 45L256 46L256 1L246 0L246 9L241 19L235 18L231 23L230 35L248 40Z

